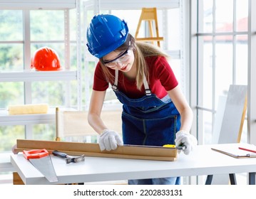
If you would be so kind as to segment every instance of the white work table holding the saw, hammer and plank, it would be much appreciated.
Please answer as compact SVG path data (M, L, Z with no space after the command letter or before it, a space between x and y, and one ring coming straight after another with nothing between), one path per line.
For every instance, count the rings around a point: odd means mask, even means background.
M233 158L213 151L212 146L215 145L197 146L188 156L180 153L176 161L87 156L85 161L66 164L63 158L51 156L51 159L58 177L56 184L171 176L208 175L209 177L222 173L249 173L250 183L255 184L256 158ZM23 154L12 154L11 163L25 184L51 184L24 158Z

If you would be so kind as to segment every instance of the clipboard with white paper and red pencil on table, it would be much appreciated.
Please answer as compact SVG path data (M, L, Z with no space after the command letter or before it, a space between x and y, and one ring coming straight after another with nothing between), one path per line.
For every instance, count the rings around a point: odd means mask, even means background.
M249 149L252 151L256 150L256 146L252 144L217 144L211 149L233 158L256 158L256 153L245 151L239 148Z

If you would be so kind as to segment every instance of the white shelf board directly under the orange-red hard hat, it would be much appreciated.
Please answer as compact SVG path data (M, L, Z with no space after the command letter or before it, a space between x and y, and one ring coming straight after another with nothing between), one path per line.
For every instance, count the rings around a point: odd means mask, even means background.
M77 71L23 71L23 72L0 72L0 82L34 82L77 80Z

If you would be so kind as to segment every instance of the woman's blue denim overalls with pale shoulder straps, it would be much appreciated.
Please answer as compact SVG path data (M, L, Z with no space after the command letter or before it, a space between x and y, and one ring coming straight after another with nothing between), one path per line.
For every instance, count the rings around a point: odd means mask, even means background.
M112 86L123 104L123 144L163 146L174 144L175 134L180 129L180 114L170 97L159 99L152 94L145 75L145 95L130 99L118 91L118 70ZM180 184L180 177L129 180L129 184Z

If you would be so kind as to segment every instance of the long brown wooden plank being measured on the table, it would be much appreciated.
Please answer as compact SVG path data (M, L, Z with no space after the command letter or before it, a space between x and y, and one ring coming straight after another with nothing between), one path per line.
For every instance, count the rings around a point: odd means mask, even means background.
M145 160L175 161L177 150L166 147L154 146L118 146L116 150L101 151L98 144L80 143L68 141L39 141L18 139L15 152L30 149L46 149L50 153L53 150L63 151L69 155L82 155L108 157L108 158L132 158Z

